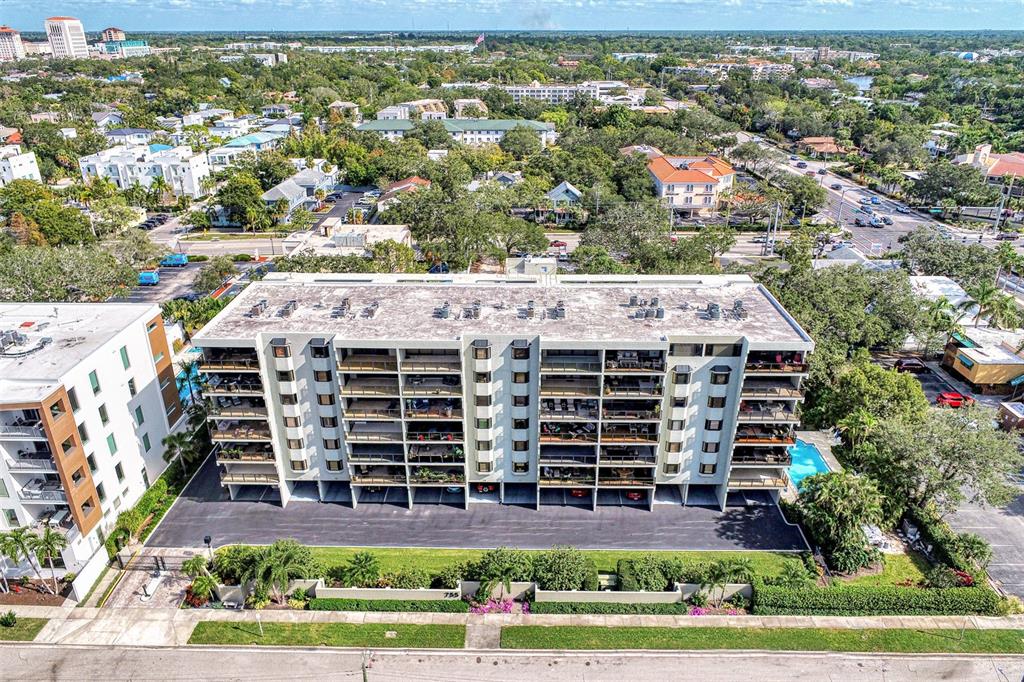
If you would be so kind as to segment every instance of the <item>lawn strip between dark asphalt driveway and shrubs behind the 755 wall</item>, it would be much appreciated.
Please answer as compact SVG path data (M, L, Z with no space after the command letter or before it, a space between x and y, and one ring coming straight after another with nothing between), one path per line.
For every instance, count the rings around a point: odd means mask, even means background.
M310 549L313 552L313 556L321 559L329 566L343 564L356 552L367 551L377 557L377 561L380 563L382 572L420 568L428 573L435 573L441 568L453 563L474 561L484 552L484 550L409 549L387 547L311 547ZM614 572L615 563L620 559L644 553L645 552L641 550L589 550L584 552L584 554L594 559L594 563L597 564L597 569L601 572ZM689 563L745 557L751 559L754 564L755 572L762 576L776 576L781 572L782 566L785 565L787 561L800 561L799 556L781 552L665 551L652 553L665 556L666 558L679 558Z

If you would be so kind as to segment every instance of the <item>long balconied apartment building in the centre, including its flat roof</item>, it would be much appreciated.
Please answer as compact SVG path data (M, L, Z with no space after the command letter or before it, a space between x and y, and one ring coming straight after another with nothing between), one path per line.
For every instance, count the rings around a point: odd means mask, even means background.
M538 508L777 495L813 348L745 275L271 273L194 342L232 499Z

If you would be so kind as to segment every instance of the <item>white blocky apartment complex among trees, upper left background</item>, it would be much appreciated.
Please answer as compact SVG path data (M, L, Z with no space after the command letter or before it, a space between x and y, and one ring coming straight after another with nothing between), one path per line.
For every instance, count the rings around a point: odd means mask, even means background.
M78 160L82 179L109 177L125 189L135 184L148 187L154 179L163 177L175 196L197 199L206 194L204 178L210 175L206 154L193 152L190 146L118 145Z

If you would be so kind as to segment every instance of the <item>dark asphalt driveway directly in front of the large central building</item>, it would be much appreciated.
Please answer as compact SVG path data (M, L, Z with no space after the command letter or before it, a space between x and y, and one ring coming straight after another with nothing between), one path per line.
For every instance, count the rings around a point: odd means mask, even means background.
M444 505L413 509L390 504L230 501L211 459L150 538L151 547L268 544L294 538L307 545L355 547L458 547L545 549L804 550L796 526L760 495L737 498L725 511L658 504L653 511L628 506L532 508L494 503L468 510ZM253 496L254 498L256 496ZM748 504L743 505L742 503Z

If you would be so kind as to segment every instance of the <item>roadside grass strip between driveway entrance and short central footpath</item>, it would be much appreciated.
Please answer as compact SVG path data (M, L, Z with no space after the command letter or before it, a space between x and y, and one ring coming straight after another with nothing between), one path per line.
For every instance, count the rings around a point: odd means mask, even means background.
M394 633L389 637L388 633ZM461 649L466 627L452 625L396 625L377 623L256 623L196 624L189 644L260 644L264 646L409 647Z

